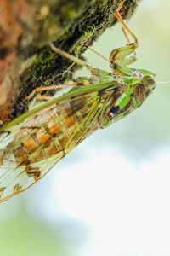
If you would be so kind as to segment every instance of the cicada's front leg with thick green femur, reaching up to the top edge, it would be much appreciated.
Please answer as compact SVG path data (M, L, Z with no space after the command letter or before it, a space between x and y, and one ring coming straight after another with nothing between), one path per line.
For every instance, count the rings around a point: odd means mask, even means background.
M120 9L122 9L123 3L124 3L124 1L122 1L119 4L119 6L118 6L114 15L116 16L116 19L119 20L122 24L123 31L124 31L125 37L127 38L128 44L125 45L125 46L122 46L120 48L113 49L111 51L111 55L110 55L110 58L109 58L109 60L111 62L111 67L113 69L115 69L116 65L118 63L119 64L119 70L120 70L120 64L128 65L128 64L131 64L133 61L136 61L135 55L130 56L130 57L127 57L127 55L132 54L134 52L134 50L139 47L138 39L136 38L134 33L131 31L131 29L127 26L127 23L125 22L125 20L122 19L122 16L119 14ZM134 39L133 43L130 43L130 40L127 36L127 32Z

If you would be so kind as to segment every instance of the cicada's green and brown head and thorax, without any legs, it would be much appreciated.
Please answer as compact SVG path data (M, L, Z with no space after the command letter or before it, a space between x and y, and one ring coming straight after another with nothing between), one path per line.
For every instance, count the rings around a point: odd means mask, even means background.
M111 104L106 109L107 119L101 127L110 125L139 108L155 88L155 75L146 70L131 69L130 75L120 76L120 86L111 95Z

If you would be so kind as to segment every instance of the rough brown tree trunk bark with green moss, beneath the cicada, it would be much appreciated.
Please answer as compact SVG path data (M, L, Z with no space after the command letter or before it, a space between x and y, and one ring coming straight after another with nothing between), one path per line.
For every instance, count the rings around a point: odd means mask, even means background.
M120 2L0 0L0 125L26 111L26 96L34 88L71 76L73 63L56 55L48 43L82 57L84 45L115 24ZM139 2L126 0L122 17L129 19Z

